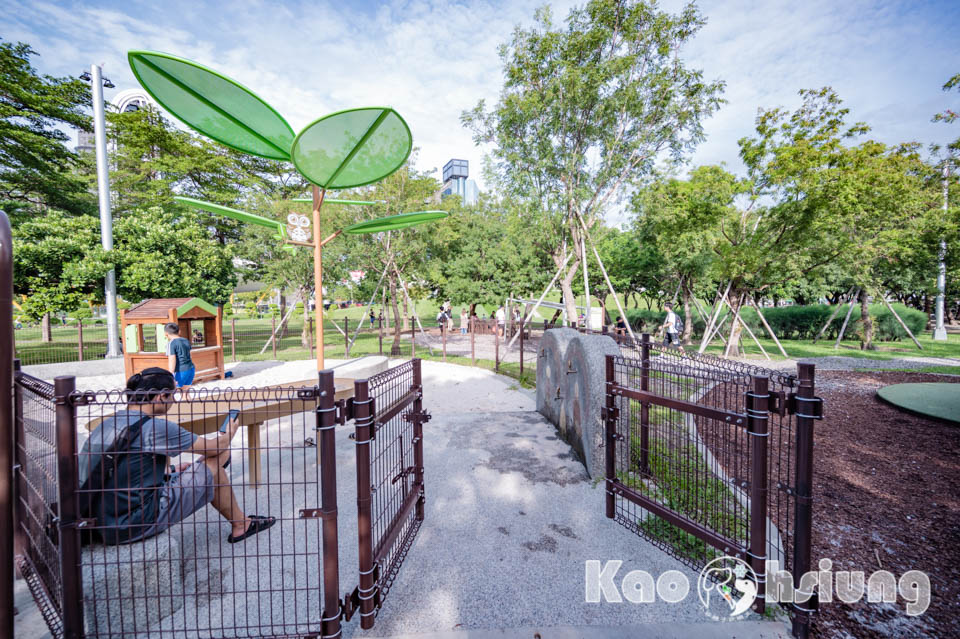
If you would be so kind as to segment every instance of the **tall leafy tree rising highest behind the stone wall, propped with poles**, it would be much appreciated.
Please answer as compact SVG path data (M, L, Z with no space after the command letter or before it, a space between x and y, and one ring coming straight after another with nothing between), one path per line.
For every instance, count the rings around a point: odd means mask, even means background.
M703 137L722 82L687 68L680 49L703 26L696 8L673 15L652 0L591 0L556 26L548 9L500 48L504 85L491 110L481 101L461 120L493 145L491 177L531 202L534 226L552 231L569 317L580 267L580 221L593 228L663 154L678 159Z

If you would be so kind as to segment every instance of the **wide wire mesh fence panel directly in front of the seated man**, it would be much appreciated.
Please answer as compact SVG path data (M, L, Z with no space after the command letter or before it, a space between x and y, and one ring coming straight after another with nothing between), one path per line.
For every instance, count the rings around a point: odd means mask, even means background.
M320 632L318 397L317 387L71 395L80 479L98 462L108 470L78 491L88 636Z

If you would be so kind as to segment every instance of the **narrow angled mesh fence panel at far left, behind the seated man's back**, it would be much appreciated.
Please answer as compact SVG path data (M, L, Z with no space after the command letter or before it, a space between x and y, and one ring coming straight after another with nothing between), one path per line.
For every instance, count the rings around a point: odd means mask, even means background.
M63 636L53 386L15 378L16 564L54 637Z

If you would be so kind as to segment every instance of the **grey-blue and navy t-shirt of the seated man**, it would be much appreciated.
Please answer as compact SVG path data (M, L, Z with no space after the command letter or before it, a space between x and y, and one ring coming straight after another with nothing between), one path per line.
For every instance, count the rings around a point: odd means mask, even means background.
M90 463L109 448L118 431L147 417L138 410L121 410L103 420L90 433L80 451L80 484L90 475ZM99 532L107 543L133 541L157 520L160 487L167 458L188 450L197 436L160 417L150 417L140 427L140 436L118 455L117 470L100 496L96 513Z

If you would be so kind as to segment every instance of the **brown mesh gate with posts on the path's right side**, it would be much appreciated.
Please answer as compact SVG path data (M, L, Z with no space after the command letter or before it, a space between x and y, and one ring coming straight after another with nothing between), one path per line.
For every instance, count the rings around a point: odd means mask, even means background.
M743 560L762 613L767 560L795 588L810 567L814 367L794 376L649 335L636 346L638 358L606 360L606 515L697 569ZM789 608L796 636L815 607L812 596Z

